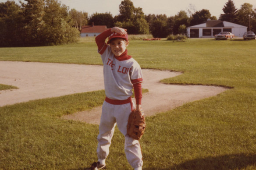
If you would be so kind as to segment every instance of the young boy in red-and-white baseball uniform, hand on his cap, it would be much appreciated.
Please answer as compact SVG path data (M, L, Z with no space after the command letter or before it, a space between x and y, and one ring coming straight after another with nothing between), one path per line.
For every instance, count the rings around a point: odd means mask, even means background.
M107 45L105 40L108 37ZM99 135L97 137L98 162L92 163L90 170L106 166L114 127L125 136L124 151L128 162L135 170L142 170L142 152L138 140L127 135L129 114L135 106L132 102L132 89L135 91L136 110L142 110L142 70L139 64L127 55L129 44L126 29L113 27L96 37L98 53L103 61L103 75L106 99L102 106Z

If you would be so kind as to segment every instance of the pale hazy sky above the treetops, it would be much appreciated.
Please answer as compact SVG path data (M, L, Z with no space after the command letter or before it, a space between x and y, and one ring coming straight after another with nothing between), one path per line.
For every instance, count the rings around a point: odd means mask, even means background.
M6 2L7 0L0 0ZM14 0L19 4L19 0ZM22 0L24 1L24 0ZM75 8L77 11L87 12L88 15L94 13L106 13L115 15L119 14L119 5L122 0L59 0L70 9ZM228 0L131 0L134 7L141 7L144 14L166 14L167 17L178 14L179 11L200 11L209 10L212 16L219 18L224 14L222 8ZM233 0L235 7L240 9L244 3L249 3L256 8L256 0Z

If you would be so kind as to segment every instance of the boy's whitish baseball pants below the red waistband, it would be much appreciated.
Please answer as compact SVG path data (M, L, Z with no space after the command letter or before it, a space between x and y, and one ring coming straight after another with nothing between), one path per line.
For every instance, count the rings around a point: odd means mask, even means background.
M118 129L125 136L124 151L128 162L133 168L143 165L139 141L127 135L128 117L131 109L134 108L135 105L133 103L117 105L104 101L100 118L99 135L97 137L98 159L104 160L107 158L111 139L114 135L114 128L117 124Z

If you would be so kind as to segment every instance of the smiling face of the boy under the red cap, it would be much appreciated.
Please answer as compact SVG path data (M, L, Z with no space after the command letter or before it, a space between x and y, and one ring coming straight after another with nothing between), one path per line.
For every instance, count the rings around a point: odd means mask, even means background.
M110 44L112 53L114 53L115 56L119 57L126 50L126 47L128 46L129 41L126 41L121 38L115 38L111 40L109 44Z

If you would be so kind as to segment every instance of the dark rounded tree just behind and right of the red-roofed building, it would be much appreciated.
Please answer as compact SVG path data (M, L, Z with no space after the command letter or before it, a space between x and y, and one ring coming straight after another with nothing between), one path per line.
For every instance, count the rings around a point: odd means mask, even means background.
M114 18L110 13L95 13L89 18L89 25L106 25L107 28L112 28L114 26Z

